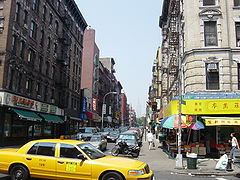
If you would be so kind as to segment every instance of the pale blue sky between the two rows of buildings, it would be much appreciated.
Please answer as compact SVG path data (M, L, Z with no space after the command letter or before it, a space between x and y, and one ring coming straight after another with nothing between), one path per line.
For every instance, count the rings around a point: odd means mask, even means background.
M152 66L160 46L162 0L75 0L96 31L100 58L113 57L128 104L145 116Z

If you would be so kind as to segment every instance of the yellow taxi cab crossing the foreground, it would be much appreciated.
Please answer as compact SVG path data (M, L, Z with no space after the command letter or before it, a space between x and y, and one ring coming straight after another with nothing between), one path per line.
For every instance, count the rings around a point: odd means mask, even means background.
M10 174L12 180L154 179L144 162L107 156L90 143L67 139L34 140L19 149L1 149L0 173Z

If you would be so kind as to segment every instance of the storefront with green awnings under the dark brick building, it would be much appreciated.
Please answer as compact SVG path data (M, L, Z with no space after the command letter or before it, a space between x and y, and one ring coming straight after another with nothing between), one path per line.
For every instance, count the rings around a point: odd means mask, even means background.
M60 135L63 110L15 94L0 92L0 146Z

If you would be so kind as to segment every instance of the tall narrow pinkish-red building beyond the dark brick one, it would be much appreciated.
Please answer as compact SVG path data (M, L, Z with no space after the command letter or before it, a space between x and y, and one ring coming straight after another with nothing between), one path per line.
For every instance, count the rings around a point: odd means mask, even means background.
M98 114L98 86L99 86L99 49L95 42L95 30L88 28L84 32L83 38L83 60L82 60L82 79L81 89L88 89L91 97L88 98L90 104L86 108L85 118L89 121L88 125L93 126L101 122ZM86 97L82 97L86 98Z

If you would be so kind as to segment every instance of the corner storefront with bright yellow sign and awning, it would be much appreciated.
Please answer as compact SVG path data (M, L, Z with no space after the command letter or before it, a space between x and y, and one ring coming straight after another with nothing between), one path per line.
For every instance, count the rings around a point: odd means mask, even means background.
M179 100L175 98L168 104L164 109L164 118L179 114L178 103ZM230 133L240 130L239 93L186 94L181 101L181 110L182 115L194 117L195 121L192 123L197 120L205 126L204 129L192 131L188 135L188 148L204 144L207 154L221 155L230 151Z

